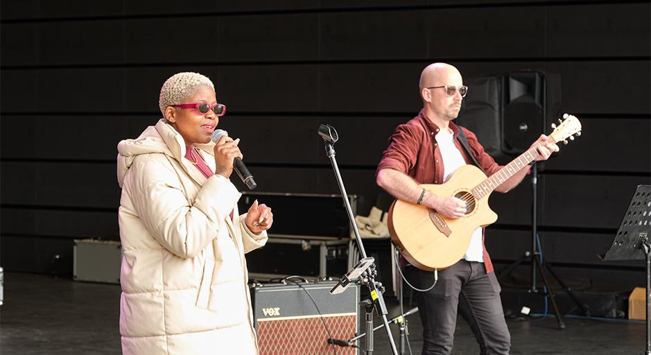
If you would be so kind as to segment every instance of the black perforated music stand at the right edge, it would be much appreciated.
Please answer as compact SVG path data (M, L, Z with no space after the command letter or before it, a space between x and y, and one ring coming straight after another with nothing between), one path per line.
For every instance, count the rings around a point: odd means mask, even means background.
M651 185L638 185L604 261L646 259L646 349L651 355Z

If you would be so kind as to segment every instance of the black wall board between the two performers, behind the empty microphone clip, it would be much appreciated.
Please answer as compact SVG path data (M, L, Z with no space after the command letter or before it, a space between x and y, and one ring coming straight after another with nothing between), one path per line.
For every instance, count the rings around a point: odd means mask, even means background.
M319 125L338 132L336 159L342 166L375 170L389 136L406 119L387 116L225 116L219 127L240 138L245 160L262 164L327 164ZM256 128L256 129L252 129Z

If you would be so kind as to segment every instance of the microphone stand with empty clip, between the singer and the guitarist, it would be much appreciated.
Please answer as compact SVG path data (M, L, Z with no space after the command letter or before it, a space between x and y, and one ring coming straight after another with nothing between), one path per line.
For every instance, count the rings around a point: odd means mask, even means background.
M325 142L326 155L329 157L330 162L332 163L332 168L335 173L337 182L339 184L339 189L341 191L341 197L344 200L344 205L346 211L348 212L348 218L350 220L350 225L353 227L355 232L355 239L357 240L357 247L362 258L366 258L366 250L362 243L362 239L359 236L359 230L357 229L357 224L355 223L355 217L353 216L353 211L350 207L350 202L348 201L348 195L344 187L344 183L339 173L339 167L337 165L337 160L335 159L335 150L333 144L339 139L337 131L331 125L322 124L319 127L319 135L322 137ZM398 355L398 350L396 349L396 344L394 343L393 336L391 335L391 330L389 329L389 323L387 320L387 306L384 302L383 286L375 281L377 275L377 270L375 263L372 265L358 278L359 284L364 284L370 291L370 298L367 298L361 302L366 309L366 354L372 355L373 353L373 309L382 318L384 324L384 329L386 329L387 337L389 339L389 344L391 345L392 354Z

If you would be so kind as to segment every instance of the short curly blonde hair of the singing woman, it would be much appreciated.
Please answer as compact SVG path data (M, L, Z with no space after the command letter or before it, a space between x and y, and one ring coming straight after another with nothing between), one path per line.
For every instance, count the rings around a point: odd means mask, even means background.
M215 85L210 81L207 76L200 73L176 73L169 77L163 83L160 89L160 96L158 98L158 107L160 108L163 116L165 109L171 105L178 105L183 103L184 99L191 96L196 92L198 87L207 86L215 89Z

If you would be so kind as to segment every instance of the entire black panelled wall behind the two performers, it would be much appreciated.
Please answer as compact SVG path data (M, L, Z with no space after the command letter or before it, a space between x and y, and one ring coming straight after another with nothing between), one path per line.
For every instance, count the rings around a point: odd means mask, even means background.
M160 86L179 71L216 84L229 112L220 128L242 139L257 191L339 193L316 134L335 126L347 192L367 214L388 137L421 107L420 72L445 60L464 78L562 76L562 110L584 130L539 176L541 245L568 277L632 286L637 263L595 254L635 185L651 182L649 11L644 1L2 1L3 266L51 272L71 239L117 238L116 144L156 123ZM529 248L531 201L530 176L492 194L498 265Z

